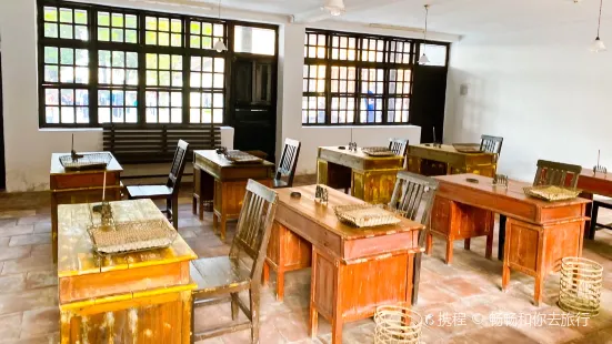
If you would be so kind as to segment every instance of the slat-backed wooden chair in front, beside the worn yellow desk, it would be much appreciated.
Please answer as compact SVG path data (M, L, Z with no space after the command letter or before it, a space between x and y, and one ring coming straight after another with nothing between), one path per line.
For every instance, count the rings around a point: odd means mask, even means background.
M251 343L259 342L259 299L261 273L274 214L277 193L262 184L249 180L244 203L238 220L237 234L229 256L200 259L191 262L191 279L198 283L193 291L193 311L201 305L217 304L231 299L233 323L205 332L194 332L191 321L191 343L225 333L251 328ZM239 297L249 291L250 305ZM238 308L247 315L247 322L238 323ZM193 316L193 315L192 315Z

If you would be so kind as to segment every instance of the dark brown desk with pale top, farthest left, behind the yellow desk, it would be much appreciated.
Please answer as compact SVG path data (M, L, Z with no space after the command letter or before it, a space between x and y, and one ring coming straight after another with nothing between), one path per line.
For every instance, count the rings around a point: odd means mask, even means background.
M96 152L108 153L110 152ZM91 153L83 153L91 154ZM66 171L60 156L70 153L51 154L51 245L53 262L58 261L58 204L92 203L102 201L104 170ZM111 154L112 156L112 154ZM107 201L121 200L121 172L123 169L112 156L107 166Z

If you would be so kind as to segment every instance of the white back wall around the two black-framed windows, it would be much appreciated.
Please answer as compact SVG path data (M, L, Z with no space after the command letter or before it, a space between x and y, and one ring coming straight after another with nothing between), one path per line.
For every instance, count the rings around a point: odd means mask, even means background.
M128 6L119 0L82 1ZM130 2L129 6L136 4L137 2ZM181 9L174 6L161 4L153 7L154 10L194 13L191 8ZM240 17L245 16L245 12L242 12L237 11L233 14L228 12L227 17L240 19ZM205 11L198 12L198 14L213 16L213 13ZM298 173L314 173L317 146L347 144L350 139L350 129L302 128L302 53L305 28L301 24L287 24L287 21L283 21L287 18L282 16L250 13L250 17L244 17L245 20L257 20L257 18L260 18L261 21L281 24L278 150L280 151L284 138L301 140L303 148ZM388 31L355 24L321 23L320 27L405 37L417 34L409 31ZM4 95L7 190L9 192L47 190L49 188L51 153L68 151L72 133L76 134L74 142L79 151L101 150L101 131L39 129L36 0L0 1L0 33ZM440 34L439 39L452 40L457 37ZM384 145L391 136L408 138L411 142L419 142L420 129L415 127L359 128L354 130L353 135L354 141L360 145ZM231 141L231 139L228 138L233 138L233 133L230 134L230 131L223 131L222 138L224 145L230 146L228 140ZM280 158L280 153L277 155ZM136 173L139 173L139 171L136 171Z

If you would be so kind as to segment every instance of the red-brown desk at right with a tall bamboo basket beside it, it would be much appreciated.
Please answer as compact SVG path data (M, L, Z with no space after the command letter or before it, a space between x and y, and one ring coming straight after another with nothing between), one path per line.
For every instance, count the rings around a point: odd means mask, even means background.
M473 178L479 183L466 182ZM530 184L509 181L508 189L492 185L492 179L475 174L435 176L440 182L433 204L431 231L452 240L472 232L482 216L508 216L502 289L510 282L510 269L535 277L534 301L542 300L543 281L560 269L561 259L582 255L585 199L545 202L523 193ZM488 222L491 225L492 222ZM458 235L458 236L455 236ZM431 236L431 235L428 235ZM431 251L428 237L428 251Z

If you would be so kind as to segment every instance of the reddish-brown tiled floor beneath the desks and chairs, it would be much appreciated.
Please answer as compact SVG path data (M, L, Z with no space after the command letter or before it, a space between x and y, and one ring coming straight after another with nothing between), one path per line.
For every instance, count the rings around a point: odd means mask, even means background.
M179 231L195 253L227 254L229 245L212 232L210 213L200 222L191 214L191 200L181 201ZM19 200L11 204L16 202ZM0 208L0 343L56 343L58 289L50 257L49 209L2 209L6 208ZM228 240L233 229L233 224L229 226ZM600 231L596 241L585 244L584 256L600 262L605 270L602 312L586 326L558 323L562 318L554 305L559 275L546 280L544 304L535 307L531 304L532 277L512 273L510 290L500 291L502 264L484 259L484 239L473 240L472 251L464 251L463 244L457 242L452 266L442 262L443 246L434 241L434 253L423 260L420 302L415 307L423 316L431 314L431 325L423 327L423 343L612 343L612 232ZM275 301L273 283L263 291L261 343L329 343L330 325L321 317L319 336L310 340L307 334L310 270L289 273L285 284L283 303ZM227 304L199 308L195 314L197 328L230 320ZM526 316L534 314L540 315L533 318L549 324L525 324ZM504 318L519 324L499 326ZM350 323L344 327L344 343L372 343L373 331L371 320ZM249 343L248 338L249 333L243 331L201 343Z

